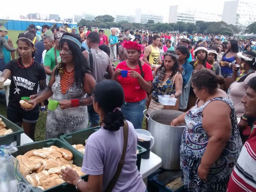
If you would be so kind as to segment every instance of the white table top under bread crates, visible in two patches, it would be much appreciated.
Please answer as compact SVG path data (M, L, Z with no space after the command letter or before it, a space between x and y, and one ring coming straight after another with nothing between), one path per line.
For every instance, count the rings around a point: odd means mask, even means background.
M21 145L31 143L33 140L29 138L25 133L21 133ZM150 152L149 159L141 159L140 174L142 179L156 171L162 166L162 159L156 154Z

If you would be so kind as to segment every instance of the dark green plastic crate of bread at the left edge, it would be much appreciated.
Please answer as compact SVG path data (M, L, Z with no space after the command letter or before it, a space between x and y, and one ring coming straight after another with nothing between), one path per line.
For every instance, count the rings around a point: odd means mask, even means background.
M11 134L0 136L0 145L10 145L14 141L17 142L17 146L21 145L21 133L24 133L24 130L2 115L0 115L0 118L6 124L6 129L12 129L13 131Z

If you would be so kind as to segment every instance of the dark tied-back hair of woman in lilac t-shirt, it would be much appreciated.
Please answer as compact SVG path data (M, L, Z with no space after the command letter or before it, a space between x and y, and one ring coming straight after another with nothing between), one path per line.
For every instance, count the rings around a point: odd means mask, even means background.
M115 95L115 97L113 97ZM124 125L124 117L119 109L124 102L122 86L114 80L103 80L95 86L95 102L104 111L103 128L117 131Z

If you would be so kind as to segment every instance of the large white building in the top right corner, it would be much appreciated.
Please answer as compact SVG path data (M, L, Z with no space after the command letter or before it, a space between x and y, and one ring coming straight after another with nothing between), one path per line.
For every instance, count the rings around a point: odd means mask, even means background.
M226 1L222 14L222 21L235 25L241 30L256 21L255 0Z

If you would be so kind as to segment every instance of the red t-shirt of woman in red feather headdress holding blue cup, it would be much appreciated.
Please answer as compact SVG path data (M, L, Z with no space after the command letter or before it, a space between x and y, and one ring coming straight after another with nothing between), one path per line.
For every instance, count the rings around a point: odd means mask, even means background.
M126 65L126 61L119 63L116 66L116 69L136 71L136 72L140 73L139 66L137 66L136 69L130 69ZM142 71L145 74L145 76L144 76L145 81L153 81L152 70L148 64L145 63L144 65L142 65ZM128 75L129 75L129 72L128 72ZM139 102L146 98L147 92L145 90L143 90L142 88L140 88L140 84L139 84L139 81L137 80L137 78L130 78L129 76L126 78L123 78L121 76L118 76L117 80L123 87L125 102Z

